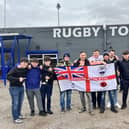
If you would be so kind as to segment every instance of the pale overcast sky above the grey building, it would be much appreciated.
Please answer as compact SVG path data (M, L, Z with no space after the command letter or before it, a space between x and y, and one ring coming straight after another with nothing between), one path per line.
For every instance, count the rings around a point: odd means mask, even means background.
M6 26L128 24L129 0L6 0ZM4 26L4 0L0 0L0 26Z

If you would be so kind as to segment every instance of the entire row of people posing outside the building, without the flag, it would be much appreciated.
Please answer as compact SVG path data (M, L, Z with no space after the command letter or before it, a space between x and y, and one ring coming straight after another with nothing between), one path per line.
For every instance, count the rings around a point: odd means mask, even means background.
M79 91L82 108L79 113L88 111L90 115L94 115L94 109L99 108L100 113L105 111L105 96L108 92L108 103L111 111L117 113L117 108L127 108L127 96L129 87L129 51L122 53L122 59L119 59L115 54L115 50L110 50L100 55L99 50L94 50L91 57L87 57L85 51L80 52L80 57L73 63L70 60L70 54L65 53L63 60L57 66L90 66L90 65L106 65L114 63L117 76L117 84L120 84L122 90L122 106L118 103L116 90L101 91L101 92L83 92ZM39 115L46 116L53 114L51 110L51 96L53 89L53 81L56 80L54 68L51 65L50 57L44 59L43 65L39 65L37 59L32 59L30 62L26 58L21 59L20 64L13 68L7 76L10 81L10 95L12 98L12 116L15 123L22 123L23 116L21 115L21 107L24 99L24 86L30 106L31 116L35 115L34 96L37 100ZM87 105L85 95L87 96ZM61 112L72 110L71 107L72 90L60 91L60 107ZM45 99L47 98L47 103Z

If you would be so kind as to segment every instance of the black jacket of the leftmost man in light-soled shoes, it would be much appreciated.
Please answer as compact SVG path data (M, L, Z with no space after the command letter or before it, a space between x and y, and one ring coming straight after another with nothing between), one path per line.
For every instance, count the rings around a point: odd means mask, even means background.
M19 81L20 77L26 77L27 69L15 67L7 75L7 79L10 81L10 86L12 87L21 87L23 82Z

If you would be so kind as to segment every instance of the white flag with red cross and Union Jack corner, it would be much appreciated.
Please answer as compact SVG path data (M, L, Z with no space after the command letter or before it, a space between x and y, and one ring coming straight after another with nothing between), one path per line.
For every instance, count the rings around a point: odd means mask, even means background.
M60 90L69 89L94 92L117 89L114 64L84 66L84 67L56 67L55 72Z

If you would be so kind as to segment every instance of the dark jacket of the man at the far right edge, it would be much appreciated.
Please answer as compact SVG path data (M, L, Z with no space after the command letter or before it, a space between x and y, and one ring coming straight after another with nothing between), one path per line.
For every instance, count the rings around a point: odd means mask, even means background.
M129 60L121 60L117 62L118 69L120 71L120 77L124 80L129 80Z

